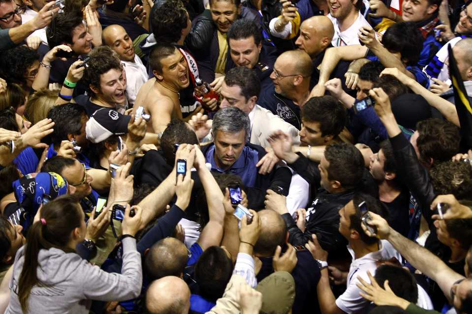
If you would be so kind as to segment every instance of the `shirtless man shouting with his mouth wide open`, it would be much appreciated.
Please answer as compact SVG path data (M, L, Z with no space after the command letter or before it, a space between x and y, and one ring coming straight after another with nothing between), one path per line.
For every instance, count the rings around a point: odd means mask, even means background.
M179 91L189 84L188 65L183 55L172 45L159 45L149 54L149 64L154 78L149 79L139 90L133 106L145 108L151 115L148 131L164 131L171 119L182 118ZM200 112L197 107L194 114ZM191 118L191 116L189 116Z

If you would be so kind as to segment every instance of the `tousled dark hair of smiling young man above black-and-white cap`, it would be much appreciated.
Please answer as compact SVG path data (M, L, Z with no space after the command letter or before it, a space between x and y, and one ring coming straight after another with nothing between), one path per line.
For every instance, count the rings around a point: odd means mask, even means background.
M84 71L84 82L90 93L95 94L89 85L100 90L100 77L102 74L115 69L122 70L122 64L116 52L108 46L95 47L89 53L89 61Z

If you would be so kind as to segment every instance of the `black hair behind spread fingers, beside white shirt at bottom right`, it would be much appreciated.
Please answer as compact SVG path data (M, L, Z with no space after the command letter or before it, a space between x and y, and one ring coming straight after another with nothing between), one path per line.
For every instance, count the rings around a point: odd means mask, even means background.
M383 288L385 280L396 296L416 303L418 301L418 286L414 276L405 268L383 264L375 270L375 281Z

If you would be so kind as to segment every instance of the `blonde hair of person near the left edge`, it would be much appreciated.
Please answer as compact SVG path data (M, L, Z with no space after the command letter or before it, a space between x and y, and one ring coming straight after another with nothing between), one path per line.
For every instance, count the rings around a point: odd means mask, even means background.
M25 116L31 124L36 124L48 117L48 112L52 107L54 107L57 99L57 92L53 92L47 88L34 92L28 97Z

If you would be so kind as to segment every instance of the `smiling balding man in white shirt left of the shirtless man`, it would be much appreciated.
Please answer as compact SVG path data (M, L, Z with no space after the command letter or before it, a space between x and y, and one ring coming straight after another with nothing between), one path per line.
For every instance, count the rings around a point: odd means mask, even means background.
M143 84L148 80L148 72L140 57L134 52L133 42L126 30L120 25L107 26L102 32L102 41L118 53L126 72L126 96L132 106L136 95Z

